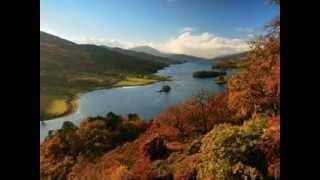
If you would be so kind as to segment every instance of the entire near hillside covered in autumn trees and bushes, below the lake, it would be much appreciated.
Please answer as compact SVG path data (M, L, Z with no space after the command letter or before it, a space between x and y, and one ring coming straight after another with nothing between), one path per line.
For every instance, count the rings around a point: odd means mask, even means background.
M147 124L113 113L66 122L40 146L41 178L279 179L279 38L246 58L225 92L201 92Z

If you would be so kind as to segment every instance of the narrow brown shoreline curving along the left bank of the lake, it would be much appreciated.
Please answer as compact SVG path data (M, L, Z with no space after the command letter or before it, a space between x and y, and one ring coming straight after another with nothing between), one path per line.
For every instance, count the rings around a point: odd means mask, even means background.
M113 85L109 85L109 86L105 86L105 87L96 87L96 88L93 88L93 89L90 89L90 90L87 90L87 91L79 92L76 95L73 95L72 97L70 97L68 100L66 100L65 103L68 106L68 110L66 112L64 112L64 113L62 113L60 115L54 116L54 117L52 117L50 119L40 120L40 123L41 122L45 123L47 121L51 121L51 120L54 120L56 118L65 117L65 116L68 116L68 115L71 115L71 114L75 113L78 110L78 107L79 107L78 100L79 100L81 94L88 93L90 91L101 90L101 89L112 89L112 88L132 87L132 86L146 86L146 85L150 85L150 84L154 84L154 83L158 83L158 82L162 82L162 81L172 81L172 80L170 79L170 77L168 77L165 80L155 80L154 82L147 82L147 83L138 84L138 85L114 85L113 84Z

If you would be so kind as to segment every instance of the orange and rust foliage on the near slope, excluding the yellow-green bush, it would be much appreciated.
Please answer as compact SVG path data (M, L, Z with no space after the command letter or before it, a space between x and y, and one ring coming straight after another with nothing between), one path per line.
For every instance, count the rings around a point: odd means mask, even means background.
M195 165L200 160L198 152L185 152L194 140L201 139L218 124L242 124L253 113L263 112L272 118L257 147L267 160L269 175L278 177L279 39L275 36L258 39L252 46L254 50L248 56L251 64L231 77L227 90L217 96L201 92L168 107L148 124L135 115L122 118L120 124L89 118L78 130L54 133L40 147L42 176L48 179L195 179ZM132 129L131 125L146 131L126 143L114 145L110 141L114 138L112 134ZM198 148L200 146L201 143ZM86 158L79 147L99 152L96 161Z

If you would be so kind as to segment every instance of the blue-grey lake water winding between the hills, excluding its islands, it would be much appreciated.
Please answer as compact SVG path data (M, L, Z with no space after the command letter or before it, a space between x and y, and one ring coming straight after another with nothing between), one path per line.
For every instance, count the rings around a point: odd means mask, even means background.
M78 110L74 114L40 123L40 141L47 136L49 130L58 129L64 121L72 121L79 125L80 121L88 116L105 115L114 112L121 115L138 113L140 117L148 120L167 106L183 101L196 95L200 90L221 92L224 85L217 85L213 78L197 79L192 72L210 70L212 63L206 61L191 61L183 64L170 65L156 74L171 76L172 81L158 82L145 86L120 87L112 89L95 90L79 97ZM233 71L228 71L233 74ZM159 93L163 85L169 85L169 93Z

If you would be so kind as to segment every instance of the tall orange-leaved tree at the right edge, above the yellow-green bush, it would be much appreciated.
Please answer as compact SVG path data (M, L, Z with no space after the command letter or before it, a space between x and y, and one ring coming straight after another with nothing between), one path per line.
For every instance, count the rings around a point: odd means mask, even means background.
M228 107L237 119L246 119L255 112L279 112L280 53L279 42L267 38L255 45L246 71L228 81Z

